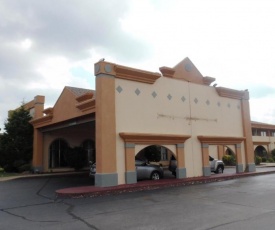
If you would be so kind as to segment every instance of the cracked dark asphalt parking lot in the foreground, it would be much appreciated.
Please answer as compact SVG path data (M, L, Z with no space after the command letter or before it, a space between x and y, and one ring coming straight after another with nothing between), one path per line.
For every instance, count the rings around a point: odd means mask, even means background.
M0 229L273 229L275 174L102 197L55 196L56 189L90 183L85 174L0 182Z

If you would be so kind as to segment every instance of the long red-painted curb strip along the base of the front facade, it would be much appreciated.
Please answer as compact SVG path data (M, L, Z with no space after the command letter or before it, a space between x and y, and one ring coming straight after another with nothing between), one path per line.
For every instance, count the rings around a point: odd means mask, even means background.
M269 165L271 166L271 165ZM275 166L275 164L274 164ZM272 167L274 167L272 165ZM261 166L266 167L266 166ZM209 177L196 177L196 178L184 178L184 179L161 179L157 181L145 180L139 181L136 184L123 184L112 187L96 187L96 186L84 186L84 187L73 187L65 188L56 191L56 195L59 198L79 198L79 197L95 197L95 196L105 196L112 194L120 194L124 192L136 192L143 190L154 190L167 187L177 187L186 186L193 184L211 183L224 180L232 180L236 178L257 176L275 173L275 167L270 167L270 170L260 171L260 172L244 172L244 173L234 173L234 174L213 174Z

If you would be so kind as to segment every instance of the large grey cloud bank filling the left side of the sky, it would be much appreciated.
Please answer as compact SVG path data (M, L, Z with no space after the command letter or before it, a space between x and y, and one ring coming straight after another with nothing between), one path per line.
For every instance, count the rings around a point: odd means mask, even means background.
M90 88L72 68L93 75L99 58L134 62L148 55L146 42L122 29L128 8L126 0L1 1L0 122L23 98L46 93L47 100L70 84Z

